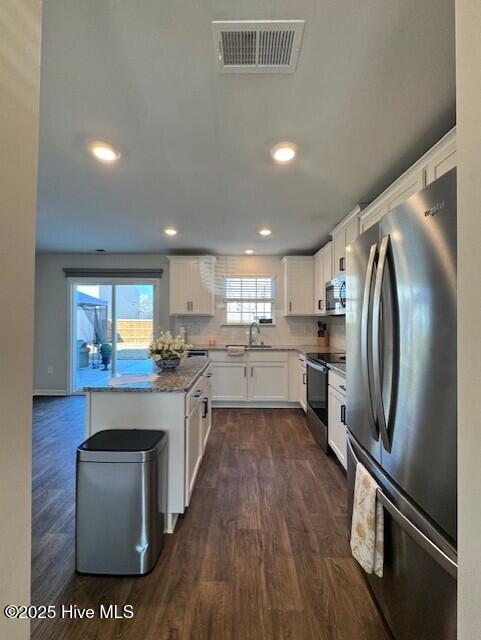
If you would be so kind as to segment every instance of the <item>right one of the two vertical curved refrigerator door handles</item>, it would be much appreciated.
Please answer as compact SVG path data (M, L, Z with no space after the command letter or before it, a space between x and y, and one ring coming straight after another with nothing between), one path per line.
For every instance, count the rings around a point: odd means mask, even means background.
M384 282L384 274L386 261L389 250L389 235L386 235L381 240L381 247L379 249L379 260L377 264L376 282L374 285L374 298L373 298L373 319L372 319L372 360L373 360L373 382L374 382L374 398L377 409L377 422L379 425L379 431L381 433L381 440L386 451L391 451L391 443L389 439L388 424L386 422L386 414L384 410L384 402L382 398L382 383L381 383L381 297L382 286ZM393 354L394 356L394 354ZM397 364L397 363L396 363ZM393 363L393 378L395 376L395 368ZM394 379L393 379L394 383ZM394 384L391 385L391 393L393 392ZM392 407L392 402L390 403Z

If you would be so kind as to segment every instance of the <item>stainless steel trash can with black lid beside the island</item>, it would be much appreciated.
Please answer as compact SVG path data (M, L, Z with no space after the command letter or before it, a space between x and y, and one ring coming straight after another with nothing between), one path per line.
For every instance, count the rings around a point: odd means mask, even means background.
M167 434L99 431L77 449L76 569L142 575L164 543Z

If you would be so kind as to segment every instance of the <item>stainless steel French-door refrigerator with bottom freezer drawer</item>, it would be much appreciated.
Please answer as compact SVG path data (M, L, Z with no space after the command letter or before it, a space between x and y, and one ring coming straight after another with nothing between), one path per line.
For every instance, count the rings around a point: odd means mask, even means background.
M349 513L360 461L379 484L396 640L456 638L456 170L347 251Z

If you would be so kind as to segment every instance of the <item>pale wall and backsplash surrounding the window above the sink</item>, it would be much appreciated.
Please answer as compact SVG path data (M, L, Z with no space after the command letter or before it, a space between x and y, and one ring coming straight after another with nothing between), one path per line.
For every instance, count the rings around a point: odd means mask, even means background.
M215 265L216 310L213 318L179 317L175 330L186 327L191 344L205 345L215 336L219 344L245 342L248 329L224 326L223 278L226 275L266 275L276 278L275 326L261 328L258 341L266 344L313 344L316 341L314 318L286 318L282 315L284 281L282 258L276 256L219 256Z

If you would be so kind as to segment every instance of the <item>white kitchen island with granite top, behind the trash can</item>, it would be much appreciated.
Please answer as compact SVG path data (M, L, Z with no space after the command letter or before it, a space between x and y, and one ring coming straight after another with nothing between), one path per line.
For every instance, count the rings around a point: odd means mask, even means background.
M188 507L211 428L211 371L206 357L186 358L173 371L117 376L85 387L86 432L160 429L168 432L166 532Z

